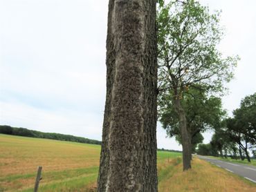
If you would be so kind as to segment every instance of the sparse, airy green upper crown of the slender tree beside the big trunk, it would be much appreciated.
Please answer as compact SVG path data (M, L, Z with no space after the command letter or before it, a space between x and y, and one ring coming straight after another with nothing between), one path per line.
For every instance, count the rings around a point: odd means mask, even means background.
M232 79L238 57L223 58L217 44L223 35L220 12L210 14L198 1L171 1L158 8L158 64L160 79L172 75L179 86L208 85L223 92L223 81ZM184 68L190 68L185 72ZM169 70L167 70L169 69ZM172 69L172 73L170 73ZM169 81L167 79L166 81ZM165 84L173 88L174 84ZM185 91L179 87L181 92Z

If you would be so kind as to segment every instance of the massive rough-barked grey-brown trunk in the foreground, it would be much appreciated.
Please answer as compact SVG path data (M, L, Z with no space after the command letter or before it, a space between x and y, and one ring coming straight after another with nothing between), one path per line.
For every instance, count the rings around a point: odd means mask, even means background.
M98 191L157 191L155 18L155 0L109 0Z

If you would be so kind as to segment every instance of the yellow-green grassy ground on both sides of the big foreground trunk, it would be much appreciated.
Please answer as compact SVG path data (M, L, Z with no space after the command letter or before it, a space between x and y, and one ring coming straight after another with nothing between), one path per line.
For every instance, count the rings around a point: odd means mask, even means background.
M182 171L181 153L158 151L159 191L256 191L256 185L194 159ZM95 191L100 146L0 134L0 191Z

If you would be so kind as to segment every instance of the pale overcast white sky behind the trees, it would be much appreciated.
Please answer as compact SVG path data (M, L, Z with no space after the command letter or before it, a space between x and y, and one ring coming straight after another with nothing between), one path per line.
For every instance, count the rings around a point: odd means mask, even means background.
M256 1L200 2L222 10L219 50L241 57L223 97L232 115L256 92ZM0 124L101 140L107 9L107 0L0 0ZM159 122L157 142L181 150Z

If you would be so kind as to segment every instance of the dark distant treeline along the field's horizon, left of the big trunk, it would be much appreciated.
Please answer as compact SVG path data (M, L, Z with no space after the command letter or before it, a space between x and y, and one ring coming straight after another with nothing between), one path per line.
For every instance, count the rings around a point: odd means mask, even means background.
M61 140L68 142L79 142L84 144L101 144L100 141L90 140L84 137L76 137L73 135L64 135L60 133L44 133L41 131L34 131L28 128L17 128L12 126L0 125L0 133L8 135L19 135L25 137L36 137L51 140Z

